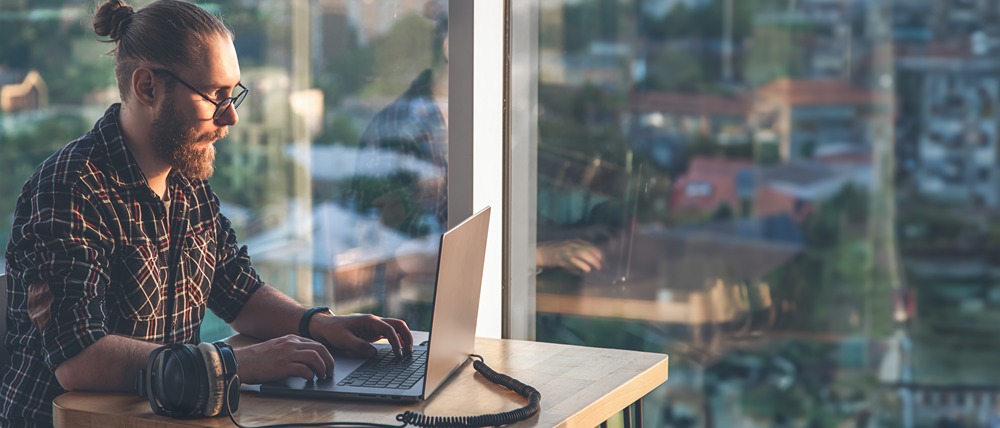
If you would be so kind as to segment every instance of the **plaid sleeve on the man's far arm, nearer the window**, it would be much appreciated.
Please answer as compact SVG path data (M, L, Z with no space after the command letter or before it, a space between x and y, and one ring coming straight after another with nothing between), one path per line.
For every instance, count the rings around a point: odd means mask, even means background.
M236 319L250 296L264 282L250 263L247 247L240 247L236 241L236 232L229 219L220 213L216 227L219 231L217 262L208 307L229 323Z

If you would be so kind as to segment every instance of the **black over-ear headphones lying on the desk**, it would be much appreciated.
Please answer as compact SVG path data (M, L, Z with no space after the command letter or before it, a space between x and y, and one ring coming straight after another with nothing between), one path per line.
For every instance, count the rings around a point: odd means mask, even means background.
M240 405L239 385L236 354L225 342L156 348L136 379L139 396L149 399L153 412L172 418L235 412Z

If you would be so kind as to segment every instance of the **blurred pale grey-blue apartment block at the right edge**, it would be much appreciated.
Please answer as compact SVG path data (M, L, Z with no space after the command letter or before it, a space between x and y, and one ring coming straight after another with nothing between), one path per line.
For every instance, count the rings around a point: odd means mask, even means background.
M897 59L919 91L912 113L915 187L926 196L976 207L1000 204L996 168L1000 59L968 43L932 43Z

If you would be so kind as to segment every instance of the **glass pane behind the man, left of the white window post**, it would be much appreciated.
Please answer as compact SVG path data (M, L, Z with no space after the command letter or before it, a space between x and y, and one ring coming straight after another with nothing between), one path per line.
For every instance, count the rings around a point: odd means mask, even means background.
M447 2L199 3L233 28L250 89L210 183L258 273L304 304L427 330L447 224ZM118 101L92 13L0 8L4 243L35 166ZM206 340L231 333L211 314L203 325Z

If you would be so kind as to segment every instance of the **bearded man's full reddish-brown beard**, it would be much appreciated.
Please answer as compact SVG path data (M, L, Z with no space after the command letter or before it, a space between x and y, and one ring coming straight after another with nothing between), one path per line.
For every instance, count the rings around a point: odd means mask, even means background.
M161 159L185 177L207 180L215 172L215 146L195 144L225 138L226 129L197 134L178 116L173 103L163 106L163 114L153 119L153 147Z

